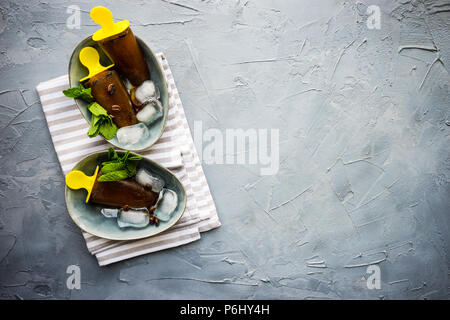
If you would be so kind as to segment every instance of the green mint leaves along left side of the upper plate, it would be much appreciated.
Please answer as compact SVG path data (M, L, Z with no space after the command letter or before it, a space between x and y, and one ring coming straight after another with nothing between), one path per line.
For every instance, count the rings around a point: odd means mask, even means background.
M78 87L63 90L63 93L68 98L81 99L90 103L88 106L89 111L92 113L91 125L88 130L88 136L90 138L101 134L106 140L111 140L116 136L117 126L113 123L108 112L97 102L94 102L91 88L85 89L80 84Z

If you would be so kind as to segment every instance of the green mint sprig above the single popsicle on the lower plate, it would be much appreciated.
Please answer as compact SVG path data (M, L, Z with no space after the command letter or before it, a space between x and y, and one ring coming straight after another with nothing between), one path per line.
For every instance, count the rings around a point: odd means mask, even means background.
M130 151L120 157L114 148L108 150L108 160L102 163L102 175L98 181L118 181L136 175L136 167L142 157L131 155Z

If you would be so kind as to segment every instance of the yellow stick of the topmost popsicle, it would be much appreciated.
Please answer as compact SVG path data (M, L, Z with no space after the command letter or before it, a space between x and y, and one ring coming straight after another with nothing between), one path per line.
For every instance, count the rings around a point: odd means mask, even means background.
M114 23L111 11L101 6L91 9L91 18L101 26L101 29L92 35L92 40L94 41L100 41L121 33L130 26L128 20Z

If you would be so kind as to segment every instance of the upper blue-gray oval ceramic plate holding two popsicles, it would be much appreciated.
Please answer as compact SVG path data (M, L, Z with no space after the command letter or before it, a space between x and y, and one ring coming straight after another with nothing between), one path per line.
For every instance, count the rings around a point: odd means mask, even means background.
M168 113L168 103L169 103L169 97L167 92L167 82L166 78L164 77L164 72L161 68L161 65L158 62L158 59L156 58L155 54L150 50L150 48L138 37L136 37L136 40L142 50L142 53L144 54L144 58L147 61L147 65L150 69L151 74L151 80L155 83L155 85L158 87L160 95L161 95L161 103L163 105L163 117L159 118L158 120L154 121L150 126L147 126L149 129L149 135L147 139L144 141L139 141L138 143L135 143L133 145L121 145L119 141L117 140L117 137L114 137L111 140L107 140L112 145L121 148L121 149L127 149L130 151L140 151L150 148L158 139L161 137L164 127L166 125L167 121L167 113ZM92 40L91 37L84 39L81 41L76 48L72 52L72 56L70 57L69 61L69 83L70 87L76 87L80 84L80 79L88 75L88 70L85 66L83 66L79 59L79 54L81 49L84 47L93 47L95 48L99 55L100 55L100 63L103 66L109 66L112 64L112 61L109 60L108 56L103 52L103 50L100 48L100 46ZM80 109L81 114L84 116L86 121L88 123L91 122L91 113L87 109L88 103L86 103L83 100L75 99L75 103L78 106L78 109ZM87 134L87 132L86 132Z

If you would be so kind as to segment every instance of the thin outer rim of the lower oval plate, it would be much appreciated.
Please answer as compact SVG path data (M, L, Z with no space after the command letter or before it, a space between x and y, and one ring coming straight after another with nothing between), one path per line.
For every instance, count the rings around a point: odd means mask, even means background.
M130 151L131 151L131 150L130 150ZM90 157L90 156L93 156L93 155L95 155L95 154L107 153L107 152L108 152L108 150L106 150L106 151L95 151L95 152L91 152L91 153L87 154L86 156L84 156L82 159L80 159L80 160L73 166L73 168L75 168L81 161L85 160L86 158L88 158L88 157ZM125 153L125 152L122 151L122 150L116 150L116 152L117 152L117 153ZM134 153L134 152L133 152L133 153ZM154 236L156 236L156 235L159 235L159 234L161 234L162 232L167 231L168 229L172 228L172 227L173 227L173 226L181 219L181 217L183 216L184 212L186 211L187 193L186 193L186 189L184 188L184 185L181 183L180 179L178 179L178 177L177 177L173 172L171 172L169 169L163 167L163 166L160 165L159 163L157 163L157 162L155 162L155 161L153 161L153 160L150 160L150 159L146 158L145 156L143 156L143 155L141 155L141 154L138 154L138 153L134 153L134 154L135 154L135 155L138 155L138 156L141 156L143 159L145 159L145 160L147 160L147 161L150 161L152 164L156 165L157 167L160 167L160 168L162 168L162 169L164 169L164 170L169 171L169 172L172 174L172 176L180 183L180 186L181 186L181 188L183 189L183 192L184 192L184 194L185 194L184 201L183 201L183 209L182 209L182 211L181 211L180 216L179 216L176 220L174 220L174 222L173 222L172 224L166 226L165 228L161 229L159 232L157 232L157 233L155 233L155 234L152 234L152 235L138 236L138 237L128 237L128 238L105 237L104 235L100 235L100 234L98 234L98 233L88 231L88 230L86 230L85 228L81 227L81 226L78 224L78 222L76 221L76 219L73 217L72 213L70 212L69 207L67 206L67 193L68 193L68 191L69 191L69 187L67 187L67 185L65 185L65 189L64 189L64 200L65 200L67 212L69 213L69 216L70 216L70 218L72 219L72 221L73 221L73 222L77 225L77 227L80 228L82 231L87 232L87 233L89 233L89 234L92 234L92 235L94 235L94 236L96 236L96 237L100 237L100 238L103 238L103 239L107 239L107 240L116 240L116 241L139 240L139 239L146 239L146 238L150 238L150 237L154 237ZM72 168L72 170L73 170L73 168ZM65 177L66 177L66 175L64 175L64 179L65 179Z

